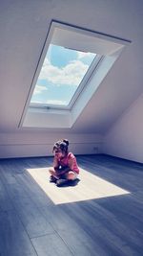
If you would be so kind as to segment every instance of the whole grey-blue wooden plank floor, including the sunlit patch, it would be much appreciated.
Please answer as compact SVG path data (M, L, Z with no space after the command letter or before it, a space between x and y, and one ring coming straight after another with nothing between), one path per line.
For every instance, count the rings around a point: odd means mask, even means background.
M0 256L143 255L143 165L77 161L78 182L58 188L52 157L0 160Z

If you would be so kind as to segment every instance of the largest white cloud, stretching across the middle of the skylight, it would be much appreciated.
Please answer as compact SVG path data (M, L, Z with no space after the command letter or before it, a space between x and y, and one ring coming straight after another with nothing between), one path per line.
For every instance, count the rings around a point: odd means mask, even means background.
M46 58L39 79L51 81L57 83L57 85L78 85L88 68L89 66L80 60L73 60L65 67L60 68L51 65L50 61Z

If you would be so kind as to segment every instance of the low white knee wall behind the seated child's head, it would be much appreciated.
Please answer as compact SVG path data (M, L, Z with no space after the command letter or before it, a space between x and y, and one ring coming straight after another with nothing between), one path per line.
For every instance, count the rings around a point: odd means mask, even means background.
M0 133L0 158L52 155L53 143L65 138L62 133L24 132ZM103 138L99 134L67 134L69 150L75 154L93 154L102 151Z

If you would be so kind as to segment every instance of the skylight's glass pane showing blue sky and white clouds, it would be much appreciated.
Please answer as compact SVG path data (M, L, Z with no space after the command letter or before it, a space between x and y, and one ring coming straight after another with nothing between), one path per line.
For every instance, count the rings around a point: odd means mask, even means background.
M36 82L32 104L69 105L95 54L51 44Z

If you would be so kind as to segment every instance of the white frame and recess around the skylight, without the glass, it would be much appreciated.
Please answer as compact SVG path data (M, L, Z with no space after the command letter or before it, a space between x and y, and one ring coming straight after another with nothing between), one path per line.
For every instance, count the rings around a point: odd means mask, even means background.
M92 63L88 72L89 74L87 74L81 82L81 88L79 87L77 95L75 94L72 97L72 101L68 107L62 105L30 105L31 95L51 43L51 37L54 30L57 32L55 33L55 37L56 34L57 38L59 34L63 34L63 37L65 36L63 40L66 40L66 46L69 44L69 48L94 52L98 57L93 61L94 63ZM67 35L69 35L69 37ZM71 45L72 36L74 35L77 36L78 40L76 42L73 41L74 43ZM57 38L53 39L57 40ZM82 44L83 39L86 43L83 42ZM62 37L59 38L59 42L60 40L61 45L63 45ZM72 128L77 117L91 100L93 93L95 93L101 81L103 81L109 70L112 68L114 61L120 56L122 50L129 44L129 42L129 40L123 40L110 35L103 35L52 21L50 31L42 50L41 58L39 59L34 74L27 105L19 126L23 128Z

